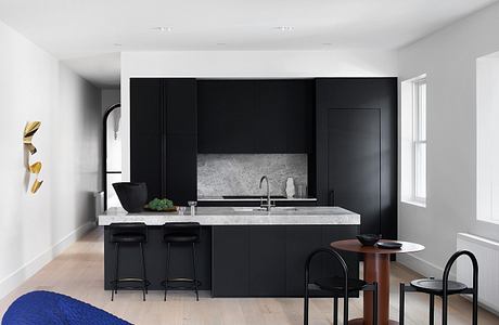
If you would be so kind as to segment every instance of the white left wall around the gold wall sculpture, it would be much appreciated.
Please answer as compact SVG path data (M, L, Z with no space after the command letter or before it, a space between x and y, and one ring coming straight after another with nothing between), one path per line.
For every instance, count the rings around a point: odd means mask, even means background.
M100 187L100 92L0 22L0 298L92 226ZM43 184L28 192L23 130Z

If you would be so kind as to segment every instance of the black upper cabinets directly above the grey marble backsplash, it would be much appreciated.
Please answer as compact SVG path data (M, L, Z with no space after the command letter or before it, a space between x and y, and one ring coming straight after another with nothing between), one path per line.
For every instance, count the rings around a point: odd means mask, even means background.
M199 152L309 153L314 80L197 81Z

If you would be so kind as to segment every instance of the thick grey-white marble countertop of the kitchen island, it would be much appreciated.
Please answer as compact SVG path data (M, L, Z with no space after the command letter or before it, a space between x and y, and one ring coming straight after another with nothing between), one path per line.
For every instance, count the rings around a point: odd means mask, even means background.
M340 207L274 207L270 212L256 207L197 207L196 214L190 209L178 212L128 213L121 208L110 208L99 216L99 225L114 222L144 222L163 225L165 222L199 222L202 225L248 224L360 224L360 214Z

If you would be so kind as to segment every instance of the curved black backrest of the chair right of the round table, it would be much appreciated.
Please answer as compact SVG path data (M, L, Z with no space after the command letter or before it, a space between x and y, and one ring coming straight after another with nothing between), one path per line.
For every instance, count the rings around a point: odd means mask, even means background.
M443 314L442 314L442 324L447 324L447 303L448 303L448 281L450 269L452 268L456 260L461 256L468 256L473 264L473 324L477 324L477 311L478 311L478 261L473 252L469 250L459 250L455 252L450 259L447 261L447 264L444 269L444 276L442 277L443 282L443 294L442 294L442 304L443 304Z

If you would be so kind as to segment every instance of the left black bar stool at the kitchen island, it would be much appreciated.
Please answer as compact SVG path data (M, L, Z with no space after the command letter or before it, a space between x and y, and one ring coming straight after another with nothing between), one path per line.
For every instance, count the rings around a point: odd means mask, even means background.
M142 299L145 301L145 294L148 294L148 286L150 282L145 275L145 258L144 246L148 243L148 227L144 223L112 223L110 225L110 242L115 244L115 273L114 280L111 283L114 289L111 290L111 301L114 300L114 294L118 292L120 283L141 283L142 284ZM119 247L120 245L139 245L140 259L142 262L142 277L118 277L119 272ZM125 289L136 289L137 287L120 287Z

